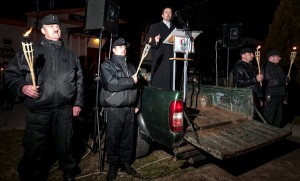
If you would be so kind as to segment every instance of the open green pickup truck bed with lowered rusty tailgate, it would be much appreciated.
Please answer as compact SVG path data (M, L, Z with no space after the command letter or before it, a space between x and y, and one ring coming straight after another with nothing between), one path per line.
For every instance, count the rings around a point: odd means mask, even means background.
M192 85L187 90L182 131L171 131L169 122L170 103L182 100L180 91L145 87L138 121L143 138L172 148L177 159L196 159L202 152L232 158L292 133L252 119L249 89Z

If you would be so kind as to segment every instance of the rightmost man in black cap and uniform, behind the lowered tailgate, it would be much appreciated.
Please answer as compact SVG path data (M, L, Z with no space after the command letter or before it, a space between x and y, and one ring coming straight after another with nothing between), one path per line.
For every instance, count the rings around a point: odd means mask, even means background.
M290 81L278 65L281 53L278 50L270 50L266 54L267 62L263 69L265 76L266 107L265 118L277 127L283 127L283 103L286 96L286 84Z

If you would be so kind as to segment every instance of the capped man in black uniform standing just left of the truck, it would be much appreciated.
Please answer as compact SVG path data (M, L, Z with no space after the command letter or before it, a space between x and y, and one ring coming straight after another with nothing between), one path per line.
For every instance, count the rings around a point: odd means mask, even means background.
M113 56L101 64L102 89L100 103L107 120L106 144L109 170L107 180L114 180L119 164L130 175L137 172L130 166L133 153L135 113L140 109L137 74L127 62L126 48L129 43L123 38L112 45Z

